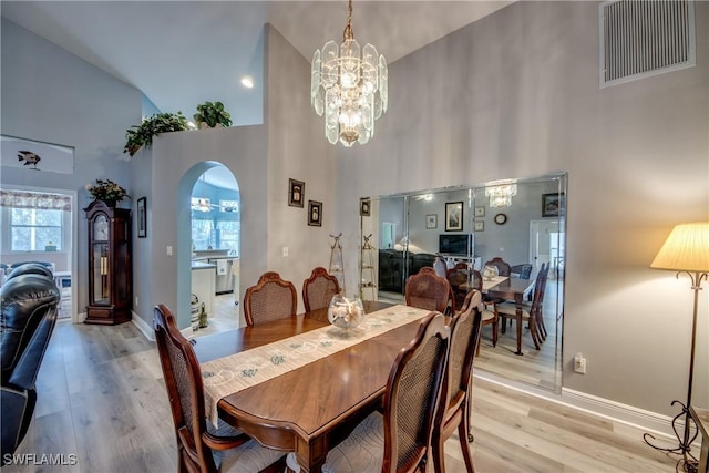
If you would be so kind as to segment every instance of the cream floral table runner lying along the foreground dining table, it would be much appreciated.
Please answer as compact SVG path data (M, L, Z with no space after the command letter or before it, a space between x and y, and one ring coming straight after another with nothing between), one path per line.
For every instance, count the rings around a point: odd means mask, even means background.
M268 381L367 339L422 319L429 312L415 307L392 306L368 313L359 327L347 331L333 326L321 327L202 363L207 415L216 425L217 402L225 395Z

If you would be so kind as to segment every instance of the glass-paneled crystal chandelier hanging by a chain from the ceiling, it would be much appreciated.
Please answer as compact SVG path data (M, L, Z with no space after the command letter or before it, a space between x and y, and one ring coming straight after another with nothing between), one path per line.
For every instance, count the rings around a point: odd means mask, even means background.
M342 45L328 41L312 55L310 100L318 116L325 113L325 136L332 144L366 144L374 135L374 120L387 111L387 60L367 44L360 50L352 31L349 0Z

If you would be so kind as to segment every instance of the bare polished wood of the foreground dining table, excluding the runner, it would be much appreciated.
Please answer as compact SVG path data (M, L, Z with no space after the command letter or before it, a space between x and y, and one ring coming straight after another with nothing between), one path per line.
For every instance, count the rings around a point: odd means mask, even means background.
M391 307L364 302L367 313ZM428 313L420 312L421 318ZM328 451L381 407L394 358L411 341L419 323L420 318L224 395L217 402L219 418L265 446L295 452L302 471L320 472ZM204 377L204 367L210 366L210 360L328 326L327 309L314 310L201 337L195 339L194 349Z

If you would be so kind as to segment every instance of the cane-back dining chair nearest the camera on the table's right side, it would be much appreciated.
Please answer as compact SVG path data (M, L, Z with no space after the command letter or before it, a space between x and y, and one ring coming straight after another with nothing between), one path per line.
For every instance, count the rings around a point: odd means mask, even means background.
M430 464L433 422L448 362L450 329L445 317L423 318L411 342L401 349L384 392L383 414L371 413L332 448L323 473L409 473ZM289 470L299 472L295 455Z

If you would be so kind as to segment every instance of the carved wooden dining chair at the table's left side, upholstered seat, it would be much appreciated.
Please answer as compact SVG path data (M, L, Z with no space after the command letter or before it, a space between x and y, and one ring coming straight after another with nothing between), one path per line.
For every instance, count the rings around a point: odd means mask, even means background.
M154 310L155 340L177 440L179 472L280 472L285 453L219 422L207 422L199 363L164 305Z

